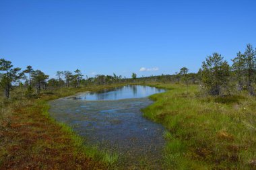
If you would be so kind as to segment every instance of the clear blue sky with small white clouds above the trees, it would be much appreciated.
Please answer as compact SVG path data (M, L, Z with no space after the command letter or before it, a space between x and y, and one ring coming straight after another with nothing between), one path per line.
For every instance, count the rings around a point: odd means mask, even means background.
M131 77L197 72L256 46L256 1L0 0L0 58L15 67ZM139 71L141 70L141 71Z

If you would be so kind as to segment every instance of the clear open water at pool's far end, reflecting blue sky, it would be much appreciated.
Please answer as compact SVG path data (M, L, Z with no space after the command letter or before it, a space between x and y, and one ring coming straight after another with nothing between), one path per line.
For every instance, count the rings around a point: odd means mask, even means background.
M131 99L148 97L154 93L162 93L164 89L149 87L145 85L127 85L123 87L115 87L113 89L104 89L99 92L82 93L71 99L82 100L116 100L116 99Z

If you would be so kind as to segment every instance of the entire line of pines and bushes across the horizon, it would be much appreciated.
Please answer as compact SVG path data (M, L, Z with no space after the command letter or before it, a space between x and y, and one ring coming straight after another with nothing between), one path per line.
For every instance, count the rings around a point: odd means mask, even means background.
M19 67L13 67L11 61L0 59L0 86L5 97L10 97L10 91L18 85L26 87L26 95L31 96L33 90L40 94L42 89L57 89L61 87L84 87L87 85L109 85L111 83L179 83L185 82L188 87L190 83L199 84L201 91L208 95L229 95L238 91L247 90L249 95L255 95L254 83L256 73L256 49L247 44L244 52L239 51L232 59L232 65L224 60L217 52L207 56L202 62L198 73L188 73L189 69L181 68L174 75L159 75L150 77L139 77L132 73L131 79L113 75L96 75L84 78L79 69L75 71L57 71L57 79L49 79L40 70L34 70L30 65L22 71ZM24 80L24 81L22 81ZM23 82L23 83L22 83ZM17 85L18 83L18 85Z

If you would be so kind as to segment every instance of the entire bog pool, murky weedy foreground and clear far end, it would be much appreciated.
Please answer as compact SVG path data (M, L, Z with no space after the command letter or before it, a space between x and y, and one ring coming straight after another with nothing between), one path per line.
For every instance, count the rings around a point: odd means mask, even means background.
M160 166L164 128L143 118L140 110L152 103L148 95L164 90L141 85L113 90L51 101L49 112L84 136L86 144L119 153L129 166L141 160L152 168Z

